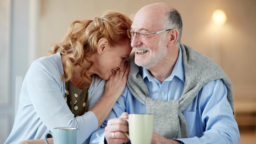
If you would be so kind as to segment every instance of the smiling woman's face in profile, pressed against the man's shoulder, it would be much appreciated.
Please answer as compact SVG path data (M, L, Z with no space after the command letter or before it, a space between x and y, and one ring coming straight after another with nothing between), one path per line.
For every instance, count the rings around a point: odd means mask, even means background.
M129 57L131 50L129 39L124 40L121 45L112 47L106 43L104 52L95 56L92 66L93 73L104 80L108 80L109 76L113 74L113 70L123 70L125 59Z

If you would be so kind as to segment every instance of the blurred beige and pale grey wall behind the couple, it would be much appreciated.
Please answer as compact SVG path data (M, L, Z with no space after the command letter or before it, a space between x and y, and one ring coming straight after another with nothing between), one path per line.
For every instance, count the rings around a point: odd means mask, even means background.
M108 9L133 19L141 7L156 2L180 12L181 42L213 59L230 77L240 143L256 142L256 0L0 0L0 143L14 122L17 76L24 78L33 60L50 55L50 45L61 41L73 21ZM212 21L216 9L227 17L219 27Z

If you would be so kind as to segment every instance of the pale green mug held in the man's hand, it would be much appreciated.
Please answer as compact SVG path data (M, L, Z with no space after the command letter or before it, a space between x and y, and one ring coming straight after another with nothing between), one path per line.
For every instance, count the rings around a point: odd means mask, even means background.
M150 144L153 135L153 115L152 114L129 114L128 119L129 134L124 133L132 144Z

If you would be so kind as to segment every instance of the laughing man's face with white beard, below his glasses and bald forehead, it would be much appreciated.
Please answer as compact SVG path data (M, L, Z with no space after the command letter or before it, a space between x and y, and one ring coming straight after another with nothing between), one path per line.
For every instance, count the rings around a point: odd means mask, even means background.
M131 30L151 33L162 30L163 18L155 13L140 10L134 17ZM136 34L131 39L131 46L135 48L135 63L149 69L157 64L167 54L165 33L147 37L141 41Z

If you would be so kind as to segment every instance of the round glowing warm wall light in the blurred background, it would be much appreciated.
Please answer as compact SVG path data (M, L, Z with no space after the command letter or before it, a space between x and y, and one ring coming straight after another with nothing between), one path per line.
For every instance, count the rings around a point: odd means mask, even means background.
M218 9L213 12L212 20L216 25L222 26L227 21L227 16L223 10Z

